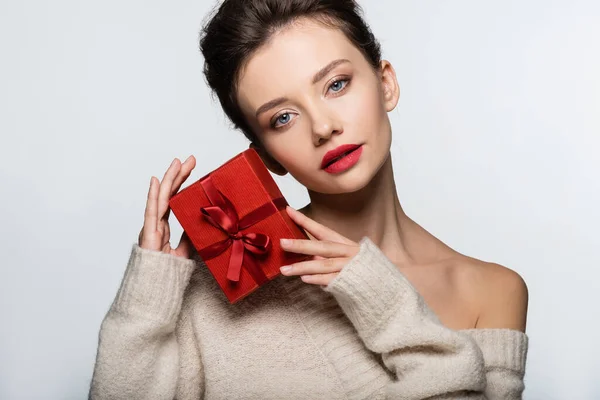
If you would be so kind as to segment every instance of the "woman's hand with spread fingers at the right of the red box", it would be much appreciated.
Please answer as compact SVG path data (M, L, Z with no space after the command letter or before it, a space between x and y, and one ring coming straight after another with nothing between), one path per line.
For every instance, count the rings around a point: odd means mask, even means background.
M281 267L281 273L287 276L300 275L304 282L313 285L329 285L344 265L358 253L359 244L290 206L286 211L294 222L316 240L281 239L283 250L313 256L311 260Z

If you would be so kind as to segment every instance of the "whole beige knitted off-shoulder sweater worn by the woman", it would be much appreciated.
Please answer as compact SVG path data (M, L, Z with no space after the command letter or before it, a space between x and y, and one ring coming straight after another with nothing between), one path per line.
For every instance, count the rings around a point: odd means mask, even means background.
M229 304L202 260L134 244L91 399L519 399L527 336L443 326L367 237L326 287L278 276Z

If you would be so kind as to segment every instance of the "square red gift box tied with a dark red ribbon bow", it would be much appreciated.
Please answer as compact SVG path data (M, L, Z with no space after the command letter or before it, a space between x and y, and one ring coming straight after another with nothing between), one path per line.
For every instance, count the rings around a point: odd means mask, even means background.
M273 177L248 149L171 197L169 206L230 303L307 259L279 246L308 239Z

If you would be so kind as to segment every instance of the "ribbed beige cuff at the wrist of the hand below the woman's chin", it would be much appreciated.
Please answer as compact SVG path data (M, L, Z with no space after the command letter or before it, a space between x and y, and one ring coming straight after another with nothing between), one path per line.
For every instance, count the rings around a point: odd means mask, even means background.
M385 323L407 291L408 280L368 237L360 249L323 290L330 292L359 335L370 338Z

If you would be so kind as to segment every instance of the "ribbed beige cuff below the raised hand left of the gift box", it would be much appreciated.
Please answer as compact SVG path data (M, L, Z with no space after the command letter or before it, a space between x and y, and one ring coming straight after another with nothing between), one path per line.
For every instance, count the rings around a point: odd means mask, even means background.
M195 266L194 260L134 243L112 309L127 316L176 321Z

